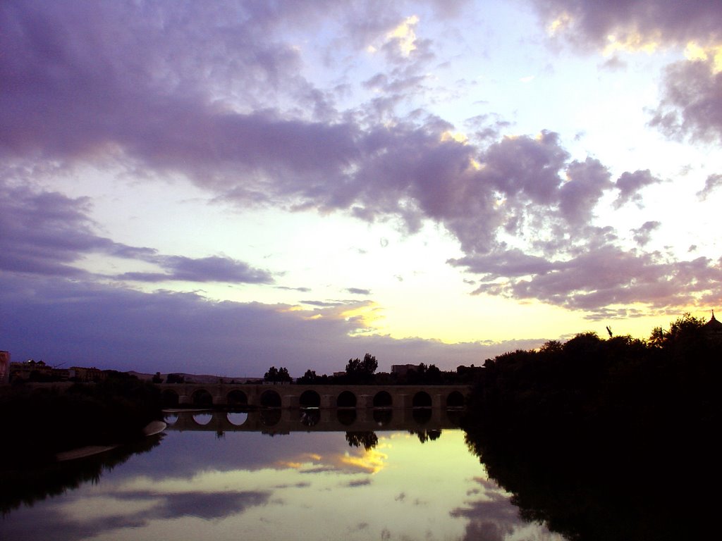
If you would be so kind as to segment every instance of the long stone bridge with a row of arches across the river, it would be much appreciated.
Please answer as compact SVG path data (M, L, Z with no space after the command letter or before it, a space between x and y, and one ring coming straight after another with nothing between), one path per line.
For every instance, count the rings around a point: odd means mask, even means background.
M463 408L469 385L160 384L165 406Z

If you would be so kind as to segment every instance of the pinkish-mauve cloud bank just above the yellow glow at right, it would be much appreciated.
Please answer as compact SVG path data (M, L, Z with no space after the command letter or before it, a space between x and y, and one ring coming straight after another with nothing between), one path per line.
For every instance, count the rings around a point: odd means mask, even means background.
M655 228L654 222L648 222L640 228L638 238L644 240L645 234ZM670 262L656 253L625 251L613 245L602 245L566 260L547 261L510 250L450 263L479 273L477 294L539 299L586 310L592 316L610 305L688 306L696 296L716 291L722 281L721 265L708 258Z

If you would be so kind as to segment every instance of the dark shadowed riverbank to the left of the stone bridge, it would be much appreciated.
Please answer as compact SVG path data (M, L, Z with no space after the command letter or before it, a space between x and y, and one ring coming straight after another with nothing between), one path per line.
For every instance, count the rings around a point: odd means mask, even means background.
M0 468L52 462L58 452L137 441L162 418L160 391L129 374L95 384L18 385L0 390L4 444Z

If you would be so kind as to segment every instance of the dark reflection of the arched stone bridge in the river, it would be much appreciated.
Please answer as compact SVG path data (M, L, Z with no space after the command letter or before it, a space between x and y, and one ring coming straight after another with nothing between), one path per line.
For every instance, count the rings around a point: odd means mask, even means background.
M463 408L261 408L243 412L166 410L168 431L290 432L440 430L458 428Z

